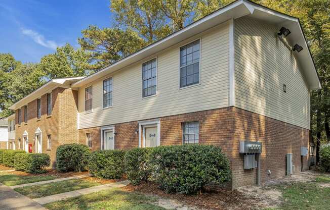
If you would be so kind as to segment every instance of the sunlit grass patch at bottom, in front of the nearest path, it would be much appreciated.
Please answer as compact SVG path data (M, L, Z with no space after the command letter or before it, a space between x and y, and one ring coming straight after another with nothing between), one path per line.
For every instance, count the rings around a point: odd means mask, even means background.
M81 195L45 205L49 210L164 210L151 204L154 197L120 189L103 190L97 193Z

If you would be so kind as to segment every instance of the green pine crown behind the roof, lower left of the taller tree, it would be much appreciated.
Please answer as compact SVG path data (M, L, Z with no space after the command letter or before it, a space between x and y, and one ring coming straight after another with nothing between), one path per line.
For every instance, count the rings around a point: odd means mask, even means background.
M123 31L119 28L100 29L97 26L89 26L81 33L83 33L83 38L79 38L78 42L81 48L91 52L94 62L91 67L94 69L110 65L147 44L130 29Z

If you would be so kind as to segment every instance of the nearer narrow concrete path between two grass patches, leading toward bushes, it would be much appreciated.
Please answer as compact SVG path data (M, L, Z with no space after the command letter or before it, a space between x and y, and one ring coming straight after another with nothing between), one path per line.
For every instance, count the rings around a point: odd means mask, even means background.
M101 190L107 190L107 189L111 189L111 188L115 188L115 187L125 187L129 183L130 183L130 181L126 180L126 181L121 181L121 182L104 184L104 185L99 185L99 186L95 186L95 187L74 190L71 192L64 192L64 193L60 193L60 194L56 194L56 195L35 198L35 199L33 199L33 201L35 201L41 205L44 205L46 203L55 202L55 201L63 200L66 198L78 197L80 195L86 195L86 194L90 194L93 192L99 192Z

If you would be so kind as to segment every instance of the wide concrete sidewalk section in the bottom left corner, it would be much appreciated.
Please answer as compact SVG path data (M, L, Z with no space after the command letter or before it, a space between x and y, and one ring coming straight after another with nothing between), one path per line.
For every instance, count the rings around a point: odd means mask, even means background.
M47 210L39 203L19 194L0 183L0 209L2 210Z

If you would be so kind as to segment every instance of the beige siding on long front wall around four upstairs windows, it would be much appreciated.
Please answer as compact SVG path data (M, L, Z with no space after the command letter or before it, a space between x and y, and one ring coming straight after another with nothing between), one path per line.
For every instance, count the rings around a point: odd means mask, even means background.
M179 89L180 46L201 40L200 85ZM157 95L142 98L142 64L157 58ZM79 129L229 106L229 23L222 23L78 91ZM103 80L113 77L113 106L103 109ZM85 87L93 85L93 112Z

